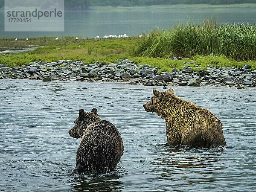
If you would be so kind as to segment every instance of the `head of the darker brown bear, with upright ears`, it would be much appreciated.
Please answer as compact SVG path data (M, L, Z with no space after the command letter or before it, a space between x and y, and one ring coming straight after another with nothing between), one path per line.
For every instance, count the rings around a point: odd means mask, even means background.
M79 110L79 116L75 120L75 125L71 128L68 133L71 137L79 139L83 136L84 130L93 122L99 121L100 118L97 116L98 111L93 108L91 112L84 112L83 109Z

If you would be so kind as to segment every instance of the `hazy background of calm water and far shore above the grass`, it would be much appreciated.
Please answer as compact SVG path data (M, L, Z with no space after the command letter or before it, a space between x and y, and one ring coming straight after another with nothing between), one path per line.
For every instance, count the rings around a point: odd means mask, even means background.
M46 0L47 1L47 0ZM20 3L20 0L17 0ZM29 6L30 0L23 0ZM216 19L218 24L256 23L256 0L65 0L64 32L8 32L0 0L0 38L147 35L179 23ZM179 4L178 4L179 3ZM239 4L238 4L239 3ZM189 5L187 5L189 4ZM218 5L218 6L215 6Z

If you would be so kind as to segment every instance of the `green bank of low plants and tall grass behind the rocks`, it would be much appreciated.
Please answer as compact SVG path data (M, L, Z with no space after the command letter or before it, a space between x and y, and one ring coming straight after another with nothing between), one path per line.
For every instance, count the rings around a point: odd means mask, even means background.
M160 71L182 69L189 64L193 70L214 67L243 67L249 64L256 70L256 26L224 25L206 20L195 25L179 25L174 29L156 30L143 38L79 39L65 37L0 39L0 48L19 48L28 45L44 46L29 52L0 55L0 64L22 66L33 61L83 60L106 63L129 59L137 64L150 64ZM173 56L183 60L173 61ZM66 67L66 66L60 66Z

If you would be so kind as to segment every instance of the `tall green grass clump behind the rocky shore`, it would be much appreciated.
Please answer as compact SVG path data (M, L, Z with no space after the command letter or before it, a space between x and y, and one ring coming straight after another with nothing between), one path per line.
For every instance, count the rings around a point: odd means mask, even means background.
M225 55L237 61L256 60L256 25L218 26L215 20L153 31L142 38L134 55L170 58Z

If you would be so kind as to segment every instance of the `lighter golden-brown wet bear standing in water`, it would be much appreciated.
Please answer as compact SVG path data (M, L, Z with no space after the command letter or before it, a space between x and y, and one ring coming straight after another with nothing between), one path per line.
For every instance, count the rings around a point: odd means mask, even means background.
M143 107L145 111L156 112L165 120L168 145L226 146L222 123L210 111L178 98L172 88L163 93L153 90L153 93L151 101Z

